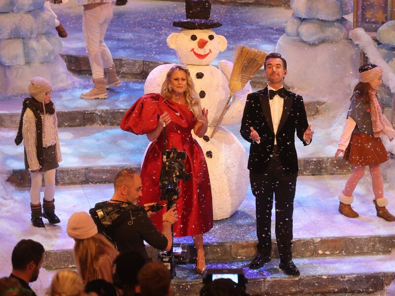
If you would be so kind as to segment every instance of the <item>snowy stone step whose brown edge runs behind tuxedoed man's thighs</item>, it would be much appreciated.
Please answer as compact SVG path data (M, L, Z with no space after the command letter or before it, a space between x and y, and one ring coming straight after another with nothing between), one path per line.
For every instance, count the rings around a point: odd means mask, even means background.
M227 129L236 135L248 153L249 143L239 135L239 126ZM0 128L0 153L3 164L10 169L8 181L15 186L26 187L29 186L30 175L24 169L23 145L15 146L15 135L16 129ZM317 134L315 141L320 141L320 137L325 135ZM111 183L120 168L140 168L149 144L146 136L111 126L59 128L59 139L63 161L57 169L58 185ZM308 148L298 145L301 176L350 173L351 166L343 159L333 159L335 146L333 151L311 152ZM320 156L314 156L318 152Z

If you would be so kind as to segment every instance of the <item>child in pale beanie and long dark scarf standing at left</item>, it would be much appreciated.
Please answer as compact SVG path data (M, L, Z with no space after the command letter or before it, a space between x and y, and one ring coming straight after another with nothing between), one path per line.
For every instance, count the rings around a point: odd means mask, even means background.
M29 82L29 95L23 101L15 144L25 147L25 168L30 172L30 207L32 224L45 227L42 217L50 224L59 223L55 214L55 169L62 161L58 137L58 120L55 105L51 101L52 86L42 77ZM45 190L41 212L40 189L44 176Z

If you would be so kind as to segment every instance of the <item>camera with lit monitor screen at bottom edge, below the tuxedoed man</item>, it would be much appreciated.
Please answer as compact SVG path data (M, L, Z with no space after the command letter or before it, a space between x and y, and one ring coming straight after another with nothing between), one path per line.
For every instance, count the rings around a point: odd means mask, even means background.
M224 281L224 279L229 282ZM221 284L219 284L219 282L213 283L216 280L221 280L223 282ZM233 281L233 283L231 281ZM228 293L227 295L248 296L248 294L245 293L247 279L244 276L242 268L208 268L207 274L203 278L203 285L200 296L209 295L210 289L214 288L215 290L215 287L212 287L213 285L216 285L216 288L220 286L222 291ZM226 289L229 289L229 291L225 291Z

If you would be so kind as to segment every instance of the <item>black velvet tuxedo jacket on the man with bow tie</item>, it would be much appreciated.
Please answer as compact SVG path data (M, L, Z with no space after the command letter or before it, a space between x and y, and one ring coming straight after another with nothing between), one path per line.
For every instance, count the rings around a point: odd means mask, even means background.
M309 123L307 122L303 98L285 89L284 92L286 97L284 98L276 140L281 165L287 173L293 174L299 170L298 156L295 149L295 131L304 146L308 145L304 141L303 135ZM260 144L250 138L250 127L253 127L261 137ZM240 134L246 141L251 143L248 169L256 174L262 173L271 159L275 143L267 87L247 96L241 120Z

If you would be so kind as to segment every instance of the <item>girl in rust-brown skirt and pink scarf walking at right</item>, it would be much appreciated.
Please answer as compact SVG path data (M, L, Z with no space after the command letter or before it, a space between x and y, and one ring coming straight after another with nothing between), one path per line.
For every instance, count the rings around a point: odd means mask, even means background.
M359 68L360 81L351 97L346 126L335 154L337 158L343 153L343 158L354 166L353 174L347 180L343 192L339 194L339 212L349 218L359 216L351 207L354 200L353 192L364 175L365 166L369 166L377 217L393 222L395 217L386 209L388 199L384 197L380 171L380 164L388 160L387 150L380 136L387 135L390 142L395 136L395 130L383 115L381 104L377 99L382 75L383 69L376 65L366 64Z

